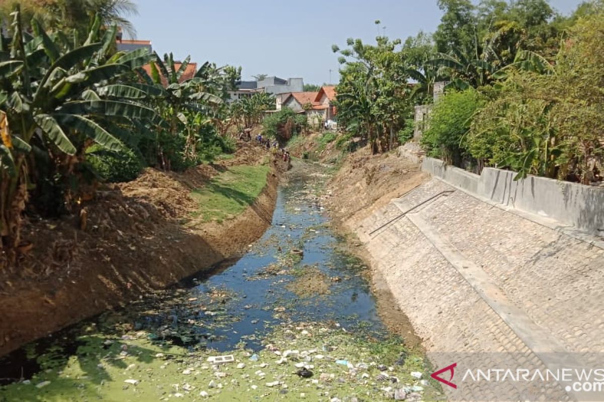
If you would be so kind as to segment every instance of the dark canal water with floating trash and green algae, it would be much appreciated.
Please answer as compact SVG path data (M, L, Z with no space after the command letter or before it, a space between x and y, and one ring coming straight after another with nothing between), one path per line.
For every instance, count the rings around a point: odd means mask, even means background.
M401 387L410 400L438 395L409 376L428 370L421 353L388 333L367 267L333 231L321 205L324 170L294 163L271 226L239 259L0 359L0 401L202 400L204 392L224 401L392 400ZM284 348L301 354L275 363ZM231 372L207 365L220 354L233 354ZM300 362L313 378L295 375ZM374 379L384 371L399 381Z

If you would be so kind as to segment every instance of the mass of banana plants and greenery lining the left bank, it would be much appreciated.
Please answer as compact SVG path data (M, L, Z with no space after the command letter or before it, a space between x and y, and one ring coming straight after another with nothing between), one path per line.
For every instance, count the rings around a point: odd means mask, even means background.
M24 219L78 215L100 183L146 166L184 171L233 152L233 130L274 105L227 102L241 68L206 62L184 77L190 57L118 51L135 11L122 0L0 6L2 265L31 248Z

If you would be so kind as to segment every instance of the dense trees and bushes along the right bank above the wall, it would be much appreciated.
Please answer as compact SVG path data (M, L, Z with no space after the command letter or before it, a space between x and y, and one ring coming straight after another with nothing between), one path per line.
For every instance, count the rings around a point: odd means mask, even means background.
M445 95L417 122L429 156L590 184L602 181L604 8L568 16L546 0L439 0L433 34L334 45L342 64L338 122L371 152L410 139L414 106ZM376 24L380 24L376 21Z

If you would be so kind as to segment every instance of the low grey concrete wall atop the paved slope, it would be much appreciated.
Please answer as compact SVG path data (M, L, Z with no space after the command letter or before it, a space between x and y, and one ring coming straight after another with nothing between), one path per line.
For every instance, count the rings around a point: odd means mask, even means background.
M516 172L484 168L481 175L425 158L422 170L473 195L514 209L554 219L590 234L604 234L604 189L529 176L514 181Z

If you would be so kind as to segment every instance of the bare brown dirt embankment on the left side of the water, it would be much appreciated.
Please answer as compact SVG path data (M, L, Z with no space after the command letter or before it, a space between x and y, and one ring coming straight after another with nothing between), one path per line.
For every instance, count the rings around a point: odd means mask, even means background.
M266 152L241 143L236 157L182 174L147 169L98 192L82 215L30 221L34 248L0 272L0 355L66 325L168 286L243 251L271 223L276 170L255 203L234 219L184 225L199 208L192 189Z

